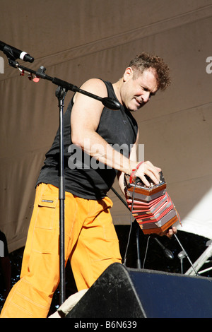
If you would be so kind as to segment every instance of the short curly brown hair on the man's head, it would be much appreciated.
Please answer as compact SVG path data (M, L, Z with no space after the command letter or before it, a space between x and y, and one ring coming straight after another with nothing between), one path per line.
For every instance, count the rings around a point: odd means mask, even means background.
M145 69L155 69L157 73L158 89L160 88L160 90L165 90L171 83L170 69L163 59L158 56L142 52L130 61L129 66L136 69L134 73L135 78L138 77L138 73L143 73Z

